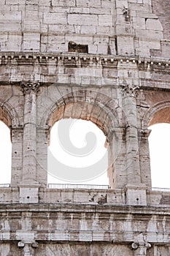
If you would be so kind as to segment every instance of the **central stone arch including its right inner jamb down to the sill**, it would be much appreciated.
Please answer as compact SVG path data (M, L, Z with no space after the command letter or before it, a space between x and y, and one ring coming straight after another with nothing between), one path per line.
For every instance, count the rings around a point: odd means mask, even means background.
M50 145L50 129L55 122L59 121L61 118L92 121L93 124L96 124L96 126L101 129L107 139L105 143L108 150L107 175L109 185L113 187L111 174L113 172L112 165L114 162L112 159L112 154L114 154L113 144L115 145L114 148L116 151L117 148L119 148L118 144L120 144L117 130L122 130L123 127L121 123L121 116L123 116L122 108L118 106L116 99L112 99L107 94L103 94L99 89L73 89L71 87L69 91L66 91L62 86L59 87L59 89L55 97L53 97L53 103L50 105L50 108L46 109L39 123L41 127L45 127L45 141L47 142L46 136L48 134L48 144ZM57 96L58 94L59 97ZM45 143L45 145L47 145L47 143Z

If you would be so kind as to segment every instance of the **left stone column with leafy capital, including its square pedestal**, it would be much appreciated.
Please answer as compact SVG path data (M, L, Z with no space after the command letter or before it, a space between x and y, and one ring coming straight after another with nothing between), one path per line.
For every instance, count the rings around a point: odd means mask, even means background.
M36 173L36 93L39 83L22 82L25 97L23 118L23 178L20 183L20 202L37 203L38 187ZM21 195L22 194L22 195Z

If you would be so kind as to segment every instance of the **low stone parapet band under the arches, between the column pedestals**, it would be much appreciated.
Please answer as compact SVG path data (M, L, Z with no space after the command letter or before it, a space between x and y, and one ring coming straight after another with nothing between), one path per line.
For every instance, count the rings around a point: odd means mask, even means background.
M127 189L40 189L39 203L70 203L90 206L140 206L168 207L169 191L147 190L145 201L142 200L140 189L134 191L135 196L128 200ZM0 203L20 203L18 188L1 188ZM27 199L28 203L31 199ZM26 203L26 202L25 202Z

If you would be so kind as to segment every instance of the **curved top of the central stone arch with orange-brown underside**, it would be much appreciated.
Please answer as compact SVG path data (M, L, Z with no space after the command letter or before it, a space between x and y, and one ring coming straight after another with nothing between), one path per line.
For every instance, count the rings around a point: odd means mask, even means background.
M74 91L74 94L69 93L51 105L45 114L42 125L51 129L53 124L61 118L83 119L92 121L107 138L111 138L113 129L120 127L118 107L114 100L101 93L98 93L97 97L93 99L86 95L77 97L77 94L78 91Z

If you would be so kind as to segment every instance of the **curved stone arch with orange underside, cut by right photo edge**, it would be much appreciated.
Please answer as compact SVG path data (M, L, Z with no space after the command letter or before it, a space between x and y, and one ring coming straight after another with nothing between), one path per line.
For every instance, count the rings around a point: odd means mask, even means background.
M170 124L170 100L158 102L147 110L142 121L142 129L147 129L152 124Z

